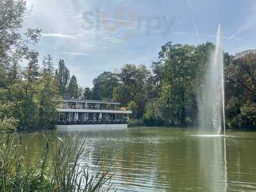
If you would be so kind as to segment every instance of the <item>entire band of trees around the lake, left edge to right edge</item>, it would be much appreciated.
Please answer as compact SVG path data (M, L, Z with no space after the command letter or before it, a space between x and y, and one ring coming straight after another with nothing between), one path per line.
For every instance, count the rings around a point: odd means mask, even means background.
M0 1L0 130L54 127L60 95L73 98L115 100L132 110L131 119L145 125L196 125L198 95L205 68L214 49L210 42L181 45L168 42L151 68L125 64L103 72L92 88L81 88L64 60L54 69L51 55L38 61L31 49L40 29L21 35L26 12L24 1ZM1 22L2 21L2 22ZM225 54L227 127L255 129L256 51ZM25 68L20 63L26 63ZM41 64L39 64L41 63ZM72 68L70 69L72 70Z

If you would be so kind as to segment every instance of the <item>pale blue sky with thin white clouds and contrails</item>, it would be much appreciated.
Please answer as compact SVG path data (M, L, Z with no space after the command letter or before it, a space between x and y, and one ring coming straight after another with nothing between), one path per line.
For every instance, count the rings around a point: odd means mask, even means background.
M215 42L221 25L223 49L235 54L256 45L254 0L26 0L32 12L22 30L42 29L35 49L51 54L77 77L80 86L125 63L158 60L166 42Z

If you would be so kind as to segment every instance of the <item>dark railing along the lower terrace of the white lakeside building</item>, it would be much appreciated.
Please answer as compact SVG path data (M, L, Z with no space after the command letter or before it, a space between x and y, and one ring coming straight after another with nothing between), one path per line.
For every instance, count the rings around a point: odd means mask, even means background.
M58 125L127 124L127 120L58 122Z

